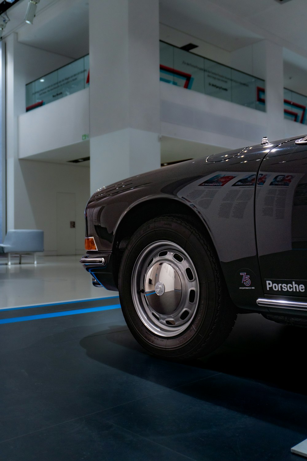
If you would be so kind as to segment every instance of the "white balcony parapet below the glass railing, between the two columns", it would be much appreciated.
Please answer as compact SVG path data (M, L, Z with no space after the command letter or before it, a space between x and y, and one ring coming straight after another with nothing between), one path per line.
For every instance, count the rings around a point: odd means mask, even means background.
M160 83L161 134L226 148L261 142L266 112Z

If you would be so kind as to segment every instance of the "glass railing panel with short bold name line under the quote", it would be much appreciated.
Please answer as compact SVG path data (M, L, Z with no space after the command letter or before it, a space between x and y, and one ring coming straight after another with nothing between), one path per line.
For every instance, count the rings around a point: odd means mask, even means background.
M205 94L232 100L231 68L205 59Z

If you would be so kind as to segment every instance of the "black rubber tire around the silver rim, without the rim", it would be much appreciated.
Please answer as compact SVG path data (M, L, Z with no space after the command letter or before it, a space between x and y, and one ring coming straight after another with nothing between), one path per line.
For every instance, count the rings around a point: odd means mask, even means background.
M145 247L160 240L174 242L185 250L193 261L199 282L196 313L187 328L174 337L162 337L150 331L139 318L132 299L131 279L135 261ZM133 235L122 258L119 294L124 318L133 336L156 355L186 355L188 350L197 348L198 343L203 342L214 323L219 304L218 285L219 277L209 248L204 248L203 242L191 231L190 226L174 218L155 219L143 225Z

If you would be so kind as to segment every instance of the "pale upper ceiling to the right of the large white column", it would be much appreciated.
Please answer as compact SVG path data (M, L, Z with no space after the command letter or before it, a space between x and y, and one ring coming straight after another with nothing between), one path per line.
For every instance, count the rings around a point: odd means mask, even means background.
M228 51L267 38L307 57L306 0L160 0L160 21Z

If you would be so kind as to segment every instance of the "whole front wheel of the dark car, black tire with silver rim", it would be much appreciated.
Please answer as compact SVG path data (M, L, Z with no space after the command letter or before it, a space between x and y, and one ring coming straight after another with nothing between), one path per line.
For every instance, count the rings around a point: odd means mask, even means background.
M186 360L212 352L237 318L212 245L197 223L161 216L131 237L119 271L127 326L151 354Z

